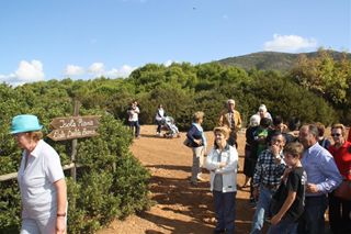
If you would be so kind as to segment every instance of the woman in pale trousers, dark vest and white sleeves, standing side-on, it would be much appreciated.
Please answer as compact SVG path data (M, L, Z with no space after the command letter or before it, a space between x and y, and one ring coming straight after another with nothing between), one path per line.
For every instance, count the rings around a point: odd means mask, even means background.
M186 137L191 143L193 149L193 166L191 168L191 185L197 186L197 180L202 181L201 168L203 166L204 154L207 146L206 136L204 130L202 129L202 123L204 121L204 112L197 111L193 115L193 123L186 133Z

